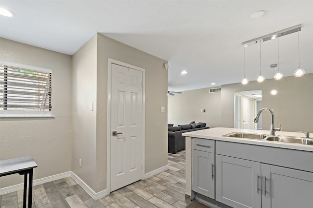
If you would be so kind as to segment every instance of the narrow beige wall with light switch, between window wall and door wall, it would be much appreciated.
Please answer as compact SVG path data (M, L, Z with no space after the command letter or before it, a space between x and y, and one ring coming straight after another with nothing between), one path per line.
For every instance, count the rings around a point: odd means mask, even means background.
M72 171L93 190L97 187L95 181L96 84L97 36L95 35L72 56ZM90 111L91 102L94 103L93 111ZM79 167L79 159L82 160L82 167ZM99 184L103 185L103 180Z

